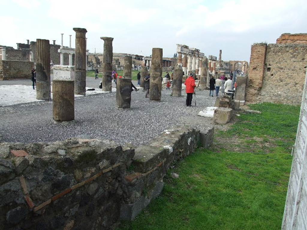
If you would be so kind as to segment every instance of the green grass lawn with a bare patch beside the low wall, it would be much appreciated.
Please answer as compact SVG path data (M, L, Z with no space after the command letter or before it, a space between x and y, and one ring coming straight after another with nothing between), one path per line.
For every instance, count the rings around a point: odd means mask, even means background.
M292 163L299 106L251 105L226 132L215 130L165 177L165 186L120 229L280 229Z

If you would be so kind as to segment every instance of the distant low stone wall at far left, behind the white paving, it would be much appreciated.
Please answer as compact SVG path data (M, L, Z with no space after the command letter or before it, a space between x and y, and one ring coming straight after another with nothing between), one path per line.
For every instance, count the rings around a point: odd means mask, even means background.
M9 61L0 60L0 80L10 80L16 78L31 79L33 62L29 61Z

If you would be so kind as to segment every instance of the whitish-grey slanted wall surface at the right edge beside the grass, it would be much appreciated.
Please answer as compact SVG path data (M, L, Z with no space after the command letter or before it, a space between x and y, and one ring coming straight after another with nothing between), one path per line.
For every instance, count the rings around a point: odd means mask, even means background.
M307 229L307 74L293 151L282 230Z

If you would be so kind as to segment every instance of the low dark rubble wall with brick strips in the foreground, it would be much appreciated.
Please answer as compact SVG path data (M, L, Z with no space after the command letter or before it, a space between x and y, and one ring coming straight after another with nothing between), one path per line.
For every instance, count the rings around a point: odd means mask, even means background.
M136 149L108 140L0 144L0 226L105 229L133 219L163 188L168 168L213 129L166 130Z

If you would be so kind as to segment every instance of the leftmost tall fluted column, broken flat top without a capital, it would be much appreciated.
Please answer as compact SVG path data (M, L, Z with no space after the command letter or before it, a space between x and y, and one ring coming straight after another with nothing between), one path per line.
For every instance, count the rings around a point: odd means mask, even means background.
M50 44L36 40L36 99L50 100Z

